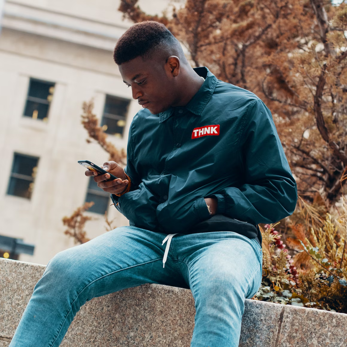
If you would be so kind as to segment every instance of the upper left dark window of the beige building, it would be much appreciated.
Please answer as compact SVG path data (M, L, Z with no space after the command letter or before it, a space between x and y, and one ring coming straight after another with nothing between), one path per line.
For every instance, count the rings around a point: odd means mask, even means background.
M24 116L47 121L53 93L54 83L30 78Z

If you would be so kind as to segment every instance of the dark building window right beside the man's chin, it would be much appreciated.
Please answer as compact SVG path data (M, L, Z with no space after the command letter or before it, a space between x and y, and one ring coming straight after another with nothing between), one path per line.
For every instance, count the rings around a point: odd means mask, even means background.
M122 137L130 100L106 95L101 127L105 133Z

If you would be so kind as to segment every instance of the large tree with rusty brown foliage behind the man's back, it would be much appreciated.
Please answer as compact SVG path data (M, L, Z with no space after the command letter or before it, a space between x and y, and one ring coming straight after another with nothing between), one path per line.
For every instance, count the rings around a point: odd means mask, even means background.
M164 23L195 66L254 92L274 119L285 120L276 125L292 149L286 155L299 193L323 190L329 201L338 198L347 167L345 4L187 0L171 19L147 16L136 4L122 0L120 10L134 22Z

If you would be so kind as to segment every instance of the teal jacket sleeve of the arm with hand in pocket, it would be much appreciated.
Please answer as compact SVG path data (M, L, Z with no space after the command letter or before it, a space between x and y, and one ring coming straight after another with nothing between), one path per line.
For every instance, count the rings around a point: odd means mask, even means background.
M277 134L271 112L260 100L249 105L239 138L244 162L244 184L211 195L217 213L242 221L273 223L292 214L296 182Z

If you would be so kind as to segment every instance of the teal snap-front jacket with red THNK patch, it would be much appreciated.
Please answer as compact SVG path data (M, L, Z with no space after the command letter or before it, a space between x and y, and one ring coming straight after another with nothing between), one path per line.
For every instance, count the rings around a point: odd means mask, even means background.
M205 82L185 107L134 117L125 168L132 184L112 195L117 209L130 225L166 233L209 219L205 197L217 198L217 214L253 225L287 217L297 188L271 112L207 68L195 71Z

